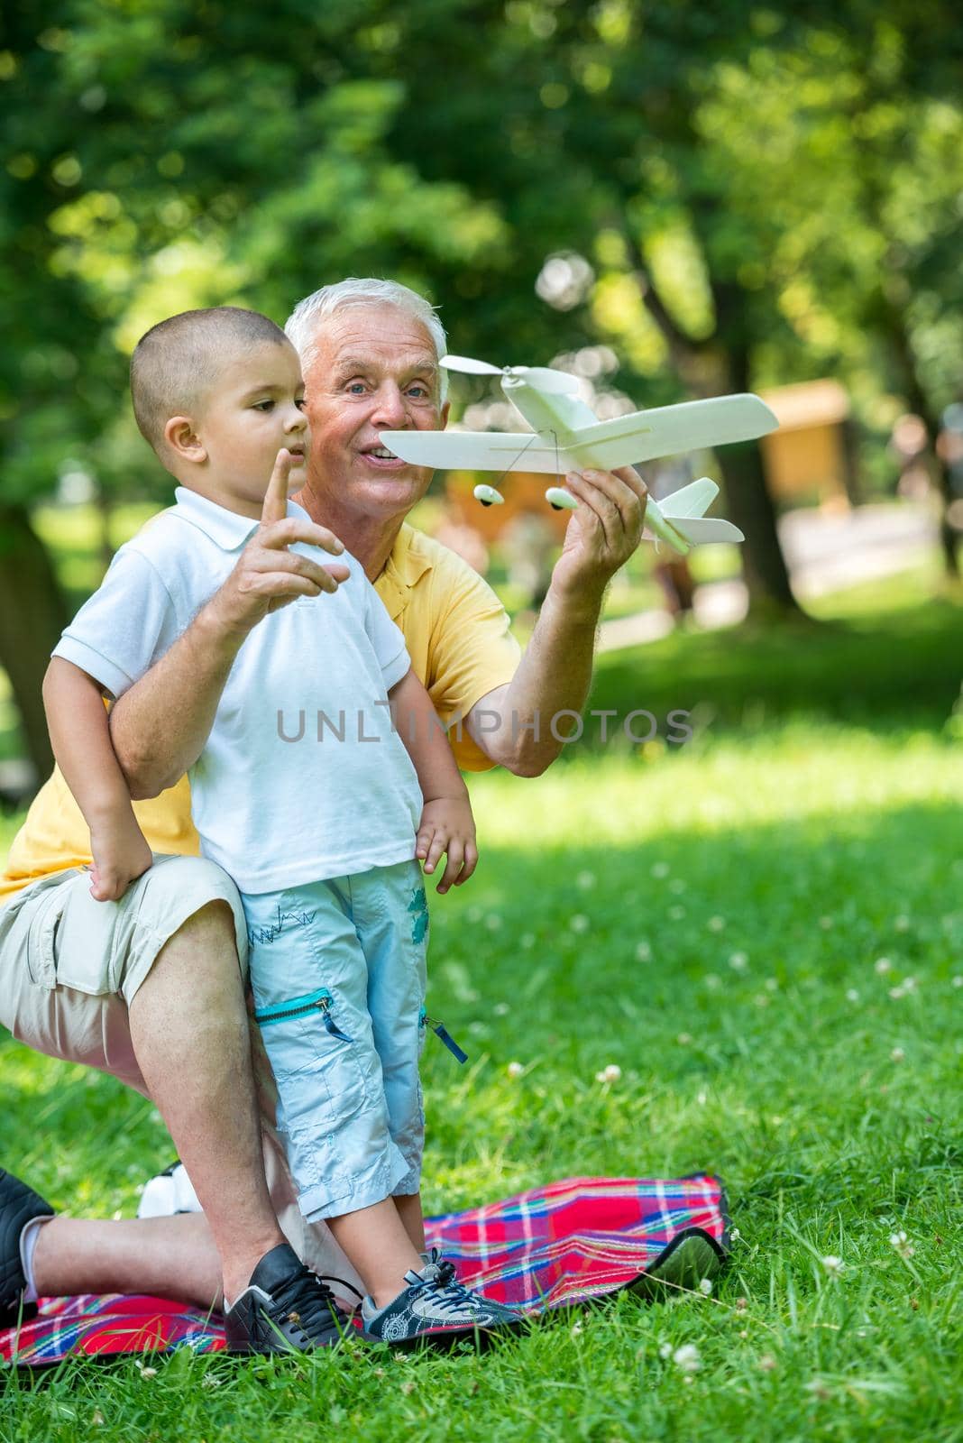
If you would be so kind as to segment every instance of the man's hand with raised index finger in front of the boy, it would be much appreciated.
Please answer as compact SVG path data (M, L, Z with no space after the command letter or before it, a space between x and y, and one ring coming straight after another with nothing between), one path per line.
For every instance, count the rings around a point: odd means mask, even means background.
M261 525L254 532L234 571L209 605L223 623L251 631L268 612L288 606L298 596L336 592L350 576L343 563L320 566L311 557L290 551L294 541L340 556L345 550L333 531L301 517L288 517L287 491L293 456L281 447L261 508Z

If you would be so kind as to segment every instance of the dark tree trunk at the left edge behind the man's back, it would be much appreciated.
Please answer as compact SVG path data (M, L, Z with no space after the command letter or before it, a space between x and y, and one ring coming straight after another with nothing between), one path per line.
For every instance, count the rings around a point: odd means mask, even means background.
M0 665L20 711L37 781L53 766L40 685L68 623L61 589L25 506L0 505Z

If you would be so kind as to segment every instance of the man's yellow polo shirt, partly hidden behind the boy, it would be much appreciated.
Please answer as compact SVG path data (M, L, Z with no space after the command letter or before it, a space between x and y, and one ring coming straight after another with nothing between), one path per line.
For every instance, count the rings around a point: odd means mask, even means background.
M515 675L520 648L509 631L505 608L467 561L409 525L398 532L375 590L401 626L411 665L428 688L435 711L454 727L450 734L458 766L486 771L493 763L467 729L460 729L458 737L456 723ZM160 797L136 802L134 812L151 851L198 854L186 776ZM86 823L55 768L13 838L7 870L0 877L0 899L36 877L86 866L89 860Z

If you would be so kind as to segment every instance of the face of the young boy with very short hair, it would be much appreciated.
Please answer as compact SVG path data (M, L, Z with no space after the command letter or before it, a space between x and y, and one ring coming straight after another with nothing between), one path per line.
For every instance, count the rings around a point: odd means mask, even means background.
M229 361L193 418L203 460L198 491L229 511L259 517L277 453L294 456L290 489L304 483L310 430L294 346L264 342Z

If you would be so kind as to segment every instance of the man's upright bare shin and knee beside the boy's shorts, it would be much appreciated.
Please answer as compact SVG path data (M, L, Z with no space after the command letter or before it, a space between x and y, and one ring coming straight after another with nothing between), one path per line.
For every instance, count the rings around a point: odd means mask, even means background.
M264 1179L248 1013L225 902L195 912L157 954L131 1001L130 1032L234 1302L264 1254L285 1238Z

